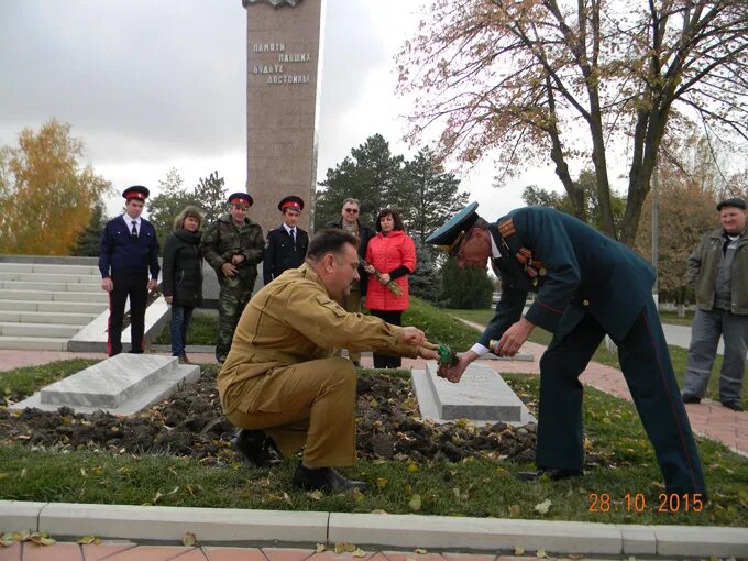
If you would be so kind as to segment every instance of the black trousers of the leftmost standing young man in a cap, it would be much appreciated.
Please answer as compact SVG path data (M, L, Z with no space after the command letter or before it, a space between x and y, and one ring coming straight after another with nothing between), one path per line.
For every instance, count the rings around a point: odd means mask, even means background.
M148 298L148 273L123 272L111 276L114 285L109 293L109 329L107 351L109 356L122 352L122 320L124 302L130 297L130 334L131 353L143 352L143 332L145 331L145 305Z

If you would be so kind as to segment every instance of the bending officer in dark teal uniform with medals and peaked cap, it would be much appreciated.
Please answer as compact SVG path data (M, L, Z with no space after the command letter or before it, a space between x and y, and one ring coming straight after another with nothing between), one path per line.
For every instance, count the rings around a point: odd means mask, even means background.
M680 399L660 318L651 296L654 270L627 246L558 210L527 207L495 223L473 202L427 242L447 245L460 266L492 258L502 279L496 315L479 343L442 367L450 382L486 352L514 356L536 326L553 333L540 360L537 472L581 475L582 374L607 333L649 436L668 493L701 495L706 486L689 418ZM522 317L528 293L537 296Z

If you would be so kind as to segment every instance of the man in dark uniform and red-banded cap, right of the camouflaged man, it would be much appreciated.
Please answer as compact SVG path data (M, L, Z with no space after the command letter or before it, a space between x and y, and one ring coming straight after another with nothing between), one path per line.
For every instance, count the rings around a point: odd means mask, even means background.
M289 268L304 264L309 248L309 234L298 227L304 200L290 195L278 202L278 210L283 215L283 223L267 233L265 243L265 258L263 261L263 280L270 284L273 278Z

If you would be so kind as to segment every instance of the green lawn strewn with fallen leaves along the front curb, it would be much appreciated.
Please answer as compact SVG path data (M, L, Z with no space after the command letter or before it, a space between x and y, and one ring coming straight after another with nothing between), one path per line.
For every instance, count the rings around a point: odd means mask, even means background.
M55 377L79 364L47 365ZM362 373L366 375L366 372ZM2 377L7 395L41 385L33 369ZM537 414L538 378L507 375L507 382ZM20 388L24 389L21 391ZM419 513L526 519L657 525L748 526L748 459L701 440L712 503L662 506L661 476L631 404L586 389L585 438L588 450L615 468L592 468L584 477L552 483L515 477L528 464L490 458L461 463L407 460L360 462L348 475L363 477L370 490L353 494L297 492L290 486L295 461L273 470L249 469L227 449L226 461L204 465L170 455L119 454L81 449L55 450L0 442L0 498L14 501L164 505L351 513ZM1 411L0 411L1 413ZM7 422L1 420L0 422ZM21 439L22 441L23 439ZM639 497L635 497L639 494ZM644 504L642 504L644 501ZM642 507L637 512L637 506ZM661 508L662 506L662 508ZM676 510L676 512L672 512Z

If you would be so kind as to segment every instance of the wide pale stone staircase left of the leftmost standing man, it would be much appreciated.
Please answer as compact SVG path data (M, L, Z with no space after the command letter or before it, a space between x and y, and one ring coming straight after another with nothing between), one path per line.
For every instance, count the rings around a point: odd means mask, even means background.
M96 258L16 258L0 261L0 349L67 351L109 308Z

